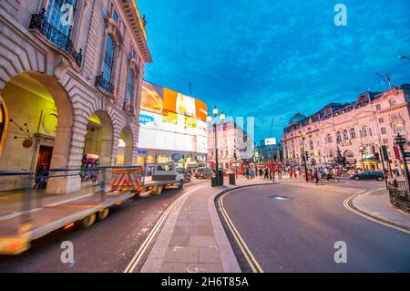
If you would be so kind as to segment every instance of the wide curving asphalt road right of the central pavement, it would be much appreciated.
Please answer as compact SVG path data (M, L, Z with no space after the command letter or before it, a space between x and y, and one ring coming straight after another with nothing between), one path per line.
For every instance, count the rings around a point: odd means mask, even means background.
M346 182L377 189L383 182ZM370 190L369 189L369 190ZM276 200L280 195L291 200ZM410 234L374 223L343 206L349 194L294 185L252 186L223 202L263 272L410 272ZM250 272L229 234L241 268ZM347 263L336 264L336 242L346 244Z

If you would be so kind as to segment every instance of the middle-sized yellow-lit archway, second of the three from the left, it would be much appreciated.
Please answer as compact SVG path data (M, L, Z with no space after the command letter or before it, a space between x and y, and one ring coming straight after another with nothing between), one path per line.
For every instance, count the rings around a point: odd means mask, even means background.
M107 112L99 110L90 116L84 142L82 167L87 165L112 166L112 132L112 123Z

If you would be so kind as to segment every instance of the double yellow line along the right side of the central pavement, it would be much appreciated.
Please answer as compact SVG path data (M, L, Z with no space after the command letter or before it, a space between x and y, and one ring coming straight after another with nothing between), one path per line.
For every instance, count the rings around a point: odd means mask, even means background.
M231 191L231 192L234 192L234 191ZM218 204L220 206L220 213L222 213L222 216L225 219L225 222L227 223L228 227L230 228L231 234L235 238L236 243L240 246L243 256L245 257L248 264L251 266L252 272L253 273L263 273L263 270L261 269L261 265L259 265L258 261L256 261L255 256L252 255L251 250L249 249L248 245L245 243L245 241L241 237L241 234L238 232L235 225L232 223L230 216L228 215L228 213L225 210L225 207L223 206L223 200L225 196L231 192L226 192L222 194L222 196L220 196L220 198L218 199Z

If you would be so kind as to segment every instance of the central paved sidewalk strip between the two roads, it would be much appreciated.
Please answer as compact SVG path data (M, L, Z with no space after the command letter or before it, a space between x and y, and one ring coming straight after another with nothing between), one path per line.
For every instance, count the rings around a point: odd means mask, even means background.
M228 179L225 177L224 182ZM201 187L169 214L141 273L240 273L231 244L220 223L215 197L245 185L272 183L239 177L236 185Z

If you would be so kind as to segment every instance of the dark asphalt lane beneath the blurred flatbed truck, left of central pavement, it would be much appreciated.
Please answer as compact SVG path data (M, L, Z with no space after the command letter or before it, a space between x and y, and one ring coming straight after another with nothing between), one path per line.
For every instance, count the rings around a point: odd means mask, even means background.
M182 190L168 189L159 196L128 200L87 229L56 231L34 241L22 255L0 255L0 272L123 272L169 204L203 182L210 180L193 179L185 182ZM64 241L74 245L74 264L60 260Z

